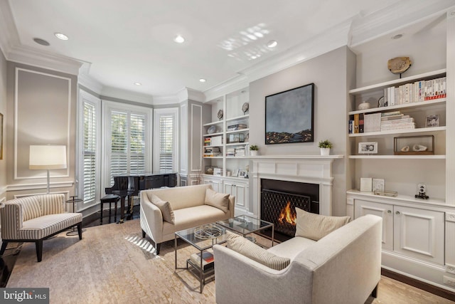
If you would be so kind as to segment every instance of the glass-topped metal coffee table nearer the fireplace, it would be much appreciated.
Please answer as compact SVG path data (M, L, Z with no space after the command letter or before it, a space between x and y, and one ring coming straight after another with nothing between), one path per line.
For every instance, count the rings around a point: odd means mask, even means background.
M253 239L248 237L256 231L272 228L272 247L274 245L274 224L269 221L263 221L252 216L240 215L224 221L217 221L216 224L225 227L226 229L242 234L244 238Z

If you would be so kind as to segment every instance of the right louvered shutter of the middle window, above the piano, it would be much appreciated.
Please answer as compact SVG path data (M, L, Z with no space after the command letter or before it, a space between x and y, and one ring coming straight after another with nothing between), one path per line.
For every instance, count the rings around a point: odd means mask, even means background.
M129 173L145 172L145 115L132 114L130 118Z

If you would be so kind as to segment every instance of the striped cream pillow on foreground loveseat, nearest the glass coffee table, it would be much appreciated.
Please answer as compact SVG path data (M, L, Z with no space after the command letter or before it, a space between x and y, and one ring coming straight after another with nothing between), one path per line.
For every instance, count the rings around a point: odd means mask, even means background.
M255 243L248 241L238 234L233 234L229 231L226 231L226 234L228 236L228 248L237 251L247 258L251 258L253 261L257 261L264 266L281 271L291 263L290 258L275 256L273 253L257 246Z

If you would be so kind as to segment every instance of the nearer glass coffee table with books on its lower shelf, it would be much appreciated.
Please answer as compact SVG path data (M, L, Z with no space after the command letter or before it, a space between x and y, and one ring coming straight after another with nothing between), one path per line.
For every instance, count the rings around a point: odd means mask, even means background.
M190 258L186 260L186 267L177 267L177 238L186 241L191 246L199 250L199 254L193 253ZM176 269L188 269L194 276L199 279L200 293L202 293L203 286L206 279L215 278L215 265L213 261L203 261L203 257L215 244L225 243L227 241L226 229L216 223L198 226L190 229L177 231L174 239L174 248L176 253ZM211 253L213 254L213 253Z

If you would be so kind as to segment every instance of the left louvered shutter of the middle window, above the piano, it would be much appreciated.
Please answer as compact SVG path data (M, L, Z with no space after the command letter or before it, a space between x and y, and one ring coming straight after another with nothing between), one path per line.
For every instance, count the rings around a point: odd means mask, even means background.
M111 112L111 183L114 176L126 175L128 172L128 130L127 113Z

